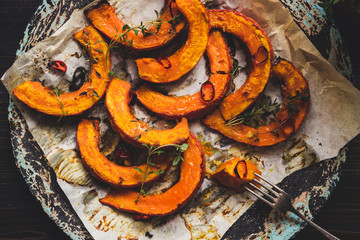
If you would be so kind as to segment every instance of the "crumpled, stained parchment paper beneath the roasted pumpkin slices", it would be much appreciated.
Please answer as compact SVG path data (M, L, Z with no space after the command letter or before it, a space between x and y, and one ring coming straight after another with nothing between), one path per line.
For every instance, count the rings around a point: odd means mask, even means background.
M160 11L163 6L162 0L109 2L116 7L121 19L133 25L155 19L154 9ZM236 9L260 24L271 39L275 55L293 62L308 80L311 103L305 122L291 139L262 149L227 141L199 121L191 122L191 130L206 149L207 170L213 171L219 163L232 156L242 157L250 153L263 175L276 183L293 171L335 157L359 133L359 91L321 56L278 0L217 2L220 8ZM11 93L23 81L34 79L66 89L68 82L64 79L70 80L76 67L89 68L84 58L76 56L75 53L80 54L82 49L72 38L86 25L88 22L83 11L74 12L55 34L20 56L2 77L7 90ZM236 57L240 64L246 64L241 50L236 52ZM46 64L51 59L66 62L68 71L65 76L48 71ZM122 73L126 71L130 82L136 85L140 81L133 59L125 59L113 52L112 60L113 69ZM199 86L199 82L207 80L205 64L205 59L201 59L186 79L167 86L169 93L181 95L197 91L187 85L193 81L195 86ZM244 73L240 74L234 80L235 85L240 86L245 78ZM279 90L271 84L266 91L266 94L279 97ZM60 186L95 239L148 239L149 236L151 239L220 239L255 200L248 193L235 193L205 179L196 197L180 212L150 222L134 221L130 214L115 211L98 201L108 189L93 180L81 164L75 139L79 119L57 121L36 113L16 99L15 102L57 173ZM141 106L136 108L136 114L145 120L156 118L149 116ZM105 119L103 103L96 104L88 116ZM113 134L103 122L101 134L102 137Z

